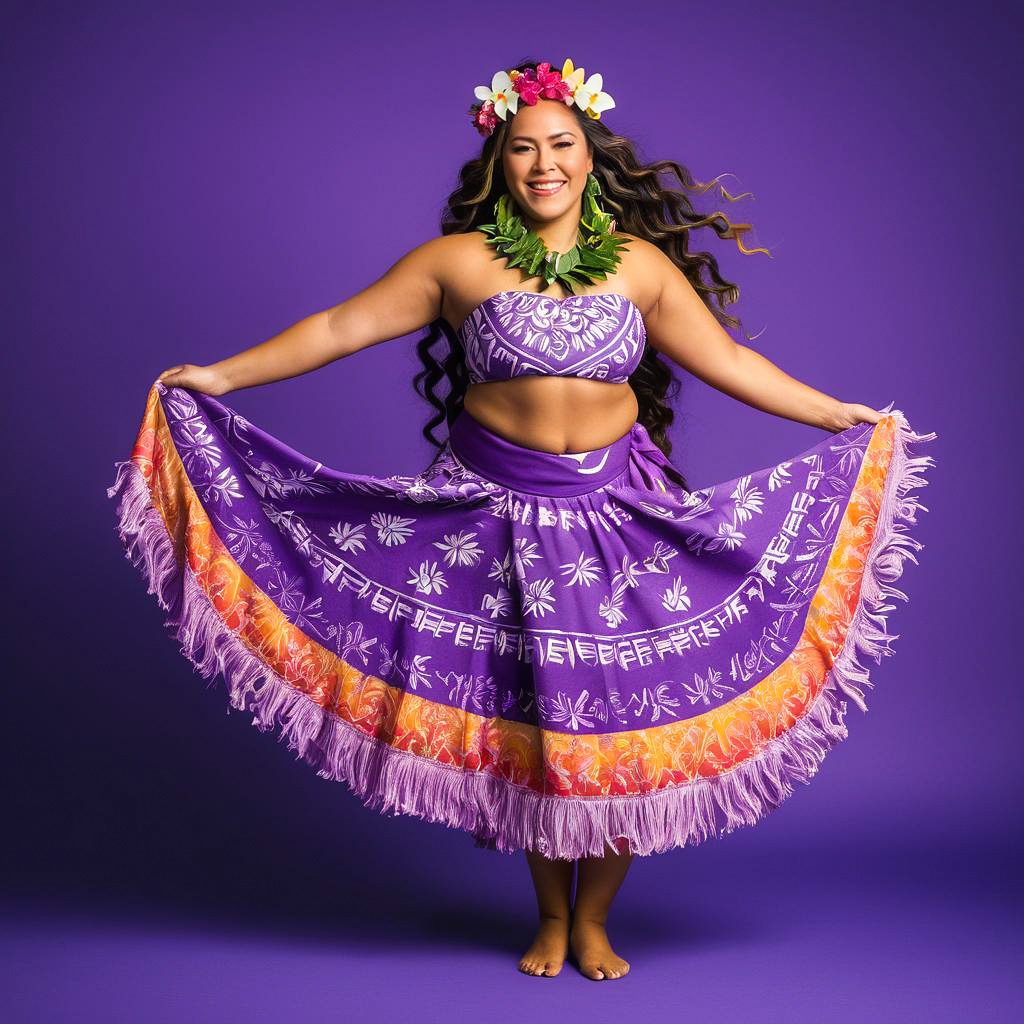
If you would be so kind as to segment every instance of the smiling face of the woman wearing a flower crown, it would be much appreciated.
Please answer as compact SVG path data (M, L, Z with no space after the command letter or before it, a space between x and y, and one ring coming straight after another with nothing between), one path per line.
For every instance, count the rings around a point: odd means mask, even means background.
M509 194L525 217L544 222L573 209L579 213L594 159L568 106L539 99L532 106L520 103L509 122L502 167Z

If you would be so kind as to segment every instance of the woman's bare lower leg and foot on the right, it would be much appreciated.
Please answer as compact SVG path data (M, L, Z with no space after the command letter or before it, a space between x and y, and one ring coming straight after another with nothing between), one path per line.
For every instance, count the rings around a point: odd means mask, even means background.
M621 978L630 970L629 962L612 950L604 926L632 860L632 853L615 853L610 847L603 857L580 858L569 944L580 971L595 981Z

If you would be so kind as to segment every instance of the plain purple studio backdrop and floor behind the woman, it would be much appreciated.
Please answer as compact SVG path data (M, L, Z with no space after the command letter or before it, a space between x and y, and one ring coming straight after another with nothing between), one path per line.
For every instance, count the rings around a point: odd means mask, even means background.
M1020 80L1014 5L25 5L10 202L3 990L32 1021L1005 1020L1021 991ZM754 828L637 858L596 991L520 975L524 858L368 811L225 717L104 494L156 376L353 294L438 231L473 86L600 71L641 157L722 172L753 347L939 439L869 713ZM1014 318L1012 318L1014 315ZM418 335L416 336L418 337ZM430 450L415 337L229 406L335 468ZM694 486L819 431L683 375ZM400 980L399 980L400 979Z

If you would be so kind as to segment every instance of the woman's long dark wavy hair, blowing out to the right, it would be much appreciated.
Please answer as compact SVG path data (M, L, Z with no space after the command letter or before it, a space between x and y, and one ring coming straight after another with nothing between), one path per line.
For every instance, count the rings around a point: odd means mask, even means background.
M536 68L537 63L536 60L523 60L515 67L522 72ZM768 250L745 248L742 234L751 230L751 224L734 224L721 211L700 213L690 202L690 195L701 195L716 184L727 202L743 199L750 194L730 196L719 184L718 178L710 182L696 181L684 166L674 160L641 164L628 138L616 135L603 121L589 117L574 104L570 110L593 155L594 174L601 185L599 202L614 215L616 229L657 246L686 274L719 323L738 328L739 318L727 313L726 306L738 300L739 288L722 276L712 253L689 251L690 231L697 227L711 227L720 239L734 239L739 251L748 255L756 252L767 254ZM494 220L494 205L508 190L502 168L502 150L509 133L510 120L499 120L498 126L484 139L479 156L463 164L459 171L459 185L449 196L441 213L442 234L472 231L478 224ZM662 184L659 175L666 173L675 175L678 188ZM444 317L433 321L426 332L416 346L423 369L415 376L413 386L434 409L423 428L423 435L431 444L440 447L443 440L434 437L433 429L441 423L451 424L458 416L469 378L462 342ZM745 332L743 334L751 340ZM436 388L445 380L446 394L439 397ZM645 345L639 366L630 375L629 384L639 407L637 421L647 428L654 444L667 457L670 456L672 442L668 430L675 419L675 412L668 399L678 394L679 379L660 353ZM681 472L679 477L680 484L688 489Z

